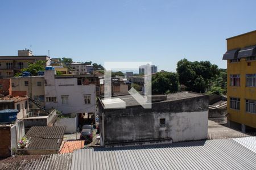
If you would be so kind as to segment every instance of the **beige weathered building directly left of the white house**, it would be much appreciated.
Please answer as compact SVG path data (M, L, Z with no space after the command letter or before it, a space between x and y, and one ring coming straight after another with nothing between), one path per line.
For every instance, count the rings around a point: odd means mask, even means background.
M44 76L18 76L11 78L11 92L26 91L26 96L45 106Z

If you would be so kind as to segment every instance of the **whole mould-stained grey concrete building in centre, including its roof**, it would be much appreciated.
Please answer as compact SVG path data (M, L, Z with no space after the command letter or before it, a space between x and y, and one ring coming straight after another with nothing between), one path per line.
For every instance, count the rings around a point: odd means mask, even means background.
M125 109L107 109L125 103ZM99 100L101 145L125 146L206 139L208 96L192 92L153 95L144 109L130 95Z

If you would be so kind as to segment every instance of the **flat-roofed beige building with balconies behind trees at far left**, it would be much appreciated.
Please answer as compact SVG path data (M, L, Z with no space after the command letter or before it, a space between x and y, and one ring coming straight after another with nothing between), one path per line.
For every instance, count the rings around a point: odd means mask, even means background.
M0 77L10 78L28 67L28 63L35 63L38 60L46 61L45 66L50 65L48 56L32 56L28 49L18 50L18 56L0 56Z

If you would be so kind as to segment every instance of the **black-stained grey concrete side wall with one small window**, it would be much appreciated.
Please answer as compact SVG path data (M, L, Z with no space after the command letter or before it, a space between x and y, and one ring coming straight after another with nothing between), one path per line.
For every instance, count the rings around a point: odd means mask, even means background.
M168 139L180 142L207 138L208 96L153 103L152 109L139 106L105 109L103 112L106 146ZM166 119L166 127L160 127L160 118ZM102 119L100 123L102 127Z

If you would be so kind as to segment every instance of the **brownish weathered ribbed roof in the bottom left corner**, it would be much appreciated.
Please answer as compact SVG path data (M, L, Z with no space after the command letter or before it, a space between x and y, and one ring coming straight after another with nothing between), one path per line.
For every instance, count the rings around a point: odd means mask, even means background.
M72 154L24 155L0 161L0 169L71 169Z

